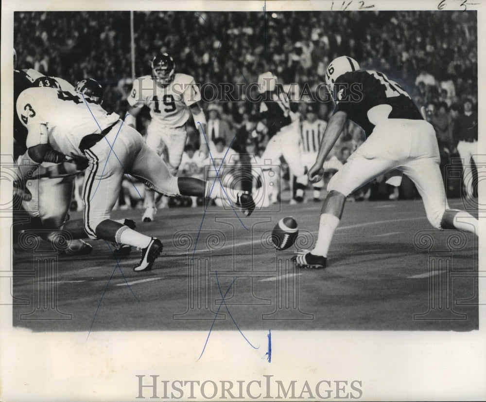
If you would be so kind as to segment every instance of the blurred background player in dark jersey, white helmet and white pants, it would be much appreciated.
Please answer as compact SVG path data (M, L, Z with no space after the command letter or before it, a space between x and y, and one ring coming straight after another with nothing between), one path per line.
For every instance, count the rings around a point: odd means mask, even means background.
M277 202L278 188L270 186L272 183L272 167L280 164L280 157L283 156L289 165L290 180L295 179L295 190L303 190L307 184L307 177L304 173L304 166L301 162L299 148L299 118L298 114L290 110L290 102L285 99L285 94L277 90L277 77L271 72L260 74L258 77L258 88L260 92L260 122L255 128L254 137L268 134L269 141L265 152L261 156L264 161L263 187L267 204ZM266 164L265 161L270 161ZM275 172L273 172L275 173ZM295 201L298 201L294 198Z

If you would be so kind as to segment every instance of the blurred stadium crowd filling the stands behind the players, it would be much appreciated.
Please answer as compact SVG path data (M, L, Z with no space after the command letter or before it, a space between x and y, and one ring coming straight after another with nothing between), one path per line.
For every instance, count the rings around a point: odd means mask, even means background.
M392 77L426 108L443 165L457 156L453 127L464 103L470 99L477 110L472 12L135 12L133 22L135 76L149 74L153 55L166 51L174 57L176 72L192 75L199 84L252 83L259 73L272 71L279 82L298 88L307 84L314 91L325 81L330 60L349 55L362 68ZM14 37L19 68L71 83L92 77L104 86L104 108L125 115L133 78L129 12L18 12ZM255 104L241 100L208 102L206 114L212 109L213 119L226 122L225 146L236 135L232 148L237 153L261 155L265 139L248 140L258 120ZM301 105L296 102L294 110L305 110ZM318 118L327 121L332 103L316 106ZM142 134L147 119L148 113L138 117ZM191 152L199 146L195 129L189 138ZM359 139L351 127L336 145L342 162L355 148L353 141ZM385 198L391 191L377 189Z

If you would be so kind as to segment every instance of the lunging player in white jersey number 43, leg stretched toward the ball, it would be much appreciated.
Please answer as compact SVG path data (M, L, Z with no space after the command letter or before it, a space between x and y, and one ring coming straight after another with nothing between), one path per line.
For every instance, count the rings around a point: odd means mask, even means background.
M137 130L124 124L118 114L107 113L97 99L85 96L83 88L79 92L29 88L18 97L17 113L28 129L26 144L34 162L59 163L66 156L87 158L84 230L92 239L139 247L142 255L135 271L150 270L163 246L157 238L110 219L123 175L137 177L161 194L226 196L245 215L255 208L247 192L223 191L218 181L213 188L211 182L171 175L165 162L144 144Z

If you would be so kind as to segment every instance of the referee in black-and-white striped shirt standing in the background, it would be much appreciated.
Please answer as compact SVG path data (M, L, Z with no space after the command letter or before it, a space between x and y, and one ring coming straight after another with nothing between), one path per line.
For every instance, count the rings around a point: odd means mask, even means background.
M321 142L324 130L327 123L324 120L317 118L317 113L314 106L307 105L305 110L305 119L300 126L300 146L302 150L302 164L306 171L314 164L317 157L317 151L319 150L319 144ZM325 172L335 172L341 168L342 164L339 160L332 155L328 161L324 163ZM307 176L305 176L307 178ZM324 176L321 181L312 184L313 201L321 201L321 190L324 186ZM297 188L295 190L295 199L298 202L304 200L304 189Z

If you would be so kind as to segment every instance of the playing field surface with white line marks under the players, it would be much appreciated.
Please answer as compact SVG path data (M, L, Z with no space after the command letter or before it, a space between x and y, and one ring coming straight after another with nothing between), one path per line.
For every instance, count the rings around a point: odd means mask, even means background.
M464 208L460 200L451 207ZM135 219L139 231L164 243L153 270L132 271L137 250L117 265L106 242L91 241L88 256L57 257L56 280L46 282L54 299L47 302L35 292L41 285L33 267L52 256L17 249L14 326L87 334L206 330L216 318L217 330L235 324L242 330L478 328L477 238L433 230L421 201L351 202L328 268L298 271L291 262L295 247L276 252L269 231L293 216L299 245L311 239L310 247L319 211L320 204L282 203L279 211L255 211L240 222L231 211L209 207L202 222L203 208L171 208L150 223L139 221L141 210L114 211L114 218Z

